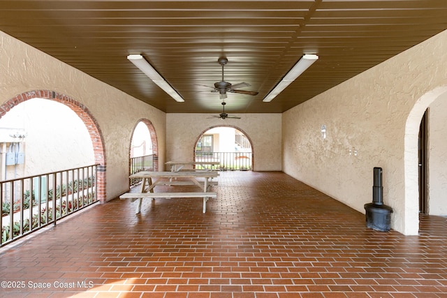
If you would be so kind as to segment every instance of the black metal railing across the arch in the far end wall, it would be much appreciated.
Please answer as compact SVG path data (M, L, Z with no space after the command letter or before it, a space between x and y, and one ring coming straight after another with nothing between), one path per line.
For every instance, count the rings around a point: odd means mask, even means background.
M215 170L251 170L251 152L201 152L196 151L196 161L218 161L219 165L211 167L205 165L203 168L214 168ZM200 167L200 166L197 166ZM196 168L197 168L196 167Z

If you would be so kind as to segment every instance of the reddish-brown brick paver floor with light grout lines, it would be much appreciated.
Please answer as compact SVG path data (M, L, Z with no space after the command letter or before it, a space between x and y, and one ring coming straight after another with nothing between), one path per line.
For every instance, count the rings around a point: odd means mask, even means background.
M139 215L112 200L3 250L0 297L447 297L446 218L378 232L281 172L218 180L205 214L200 199Z

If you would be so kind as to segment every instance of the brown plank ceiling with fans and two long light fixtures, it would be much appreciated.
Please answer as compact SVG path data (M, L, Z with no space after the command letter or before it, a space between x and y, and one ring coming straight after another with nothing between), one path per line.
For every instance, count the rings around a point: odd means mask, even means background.
M0 1L0 30L168 113L284 112L447 29L446 0ZM142 54L177 103L127 59ZM302 54L318 54L270 103ZM205 86L204 86L205 85Z

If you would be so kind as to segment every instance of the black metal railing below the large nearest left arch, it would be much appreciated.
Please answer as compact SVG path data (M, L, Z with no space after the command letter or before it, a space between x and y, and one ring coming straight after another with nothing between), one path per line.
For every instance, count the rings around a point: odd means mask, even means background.
M0 246L98 202L97 167L0 181Z

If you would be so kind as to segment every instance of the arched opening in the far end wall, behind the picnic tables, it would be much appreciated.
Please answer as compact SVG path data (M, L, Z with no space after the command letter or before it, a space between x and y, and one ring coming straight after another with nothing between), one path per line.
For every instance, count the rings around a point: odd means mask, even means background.
M211 126L195 142L194 161L219 161L219 170L253 170L250 137L236 126Z

